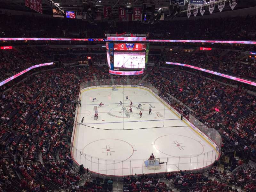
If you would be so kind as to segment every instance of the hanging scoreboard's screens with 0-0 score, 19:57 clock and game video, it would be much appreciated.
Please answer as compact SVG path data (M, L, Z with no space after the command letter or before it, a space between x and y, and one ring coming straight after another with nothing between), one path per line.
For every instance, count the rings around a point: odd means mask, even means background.
M148 61L148 44L106 43L108 66L111 70L144 70Z

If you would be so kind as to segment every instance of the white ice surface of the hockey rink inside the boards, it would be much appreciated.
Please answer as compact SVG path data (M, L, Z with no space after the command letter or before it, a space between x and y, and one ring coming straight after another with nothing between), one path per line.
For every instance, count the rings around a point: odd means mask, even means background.
M97 100L92 102L94 97ZM147 89L92 88L82 90L80 99L72 156L90 171L130 175L193 170L210 165L218 158L218 152L208 141ZM118 105L120 101L122 106ZM130 101L133 113L129 111ZM102 107L100 102L104 104ZM148 114L149 107L152 115ZM94 120L96 108L98 120ZM82 117L84 121L80 124ZM164 162L158 169L147 167L151 153Z

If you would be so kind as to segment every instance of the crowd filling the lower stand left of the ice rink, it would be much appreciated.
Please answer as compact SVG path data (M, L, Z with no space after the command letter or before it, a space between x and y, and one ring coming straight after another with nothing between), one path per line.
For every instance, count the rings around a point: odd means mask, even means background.
M73 161L68 141L79 84L93 77L88 67L77 69L39 73L1 94L1 166L7 175L2 189L16 183L18 191L38 186L44 191L80 180L69 171Z

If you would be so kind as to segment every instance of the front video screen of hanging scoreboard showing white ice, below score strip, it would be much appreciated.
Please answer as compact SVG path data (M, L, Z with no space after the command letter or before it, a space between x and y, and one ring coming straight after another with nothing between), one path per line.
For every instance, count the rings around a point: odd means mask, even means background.
M144 69L146 52L114 52L114 70Z

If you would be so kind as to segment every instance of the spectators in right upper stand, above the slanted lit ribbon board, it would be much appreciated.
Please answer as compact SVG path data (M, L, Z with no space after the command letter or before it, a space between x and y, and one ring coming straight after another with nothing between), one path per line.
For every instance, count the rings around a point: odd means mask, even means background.
M214 49L210 52L196 52L172 50L164 53L166 61L185 63L201 68L218 71L224 74L239 76L246 79L256 80L255 65L242 63L237 56L244 52L225 51L223 49Z

